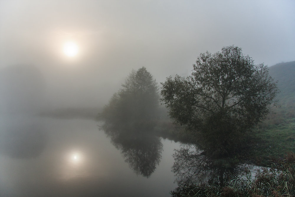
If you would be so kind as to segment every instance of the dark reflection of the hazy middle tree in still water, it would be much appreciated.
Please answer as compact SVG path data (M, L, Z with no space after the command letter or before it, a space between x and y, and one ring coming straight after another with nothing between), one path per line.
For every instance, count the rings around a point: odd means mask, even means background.
M162 158L163 144L159 137L143 128L120 128L103 126L112 144L119 150L137 174L150 177Z

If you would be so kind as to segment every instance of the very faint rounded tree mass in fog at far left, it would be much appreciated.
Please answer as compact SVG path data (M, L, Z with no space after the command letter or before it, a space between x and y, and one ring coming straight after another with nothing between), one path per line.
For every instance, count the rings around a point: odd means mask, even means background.
M14 65L0 70L0 112L39 113L44 104L45 80L35 66Z

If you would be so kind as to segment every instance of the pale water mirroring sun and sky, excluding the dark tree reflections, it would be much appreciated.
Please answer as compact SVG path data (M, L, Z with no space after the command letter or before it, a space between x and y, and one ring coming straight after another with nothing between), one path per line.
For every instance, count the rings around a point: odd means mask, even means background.
M176 187L171 155L179 144L162 140L160 164L146 178L130 169L96 122L38 122L47 131L46 146L37 157L0 153L0 196L170 196Z

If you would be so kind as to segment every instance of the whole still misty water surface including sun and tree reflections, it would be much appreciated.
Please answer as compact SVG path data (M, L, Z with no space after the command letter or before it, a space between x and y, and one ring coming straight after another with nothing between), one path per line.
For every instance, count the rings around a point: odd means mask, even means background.
M0 196L170 196L173 149L83 119L1 119ZM122 139L123 138L123 139Z

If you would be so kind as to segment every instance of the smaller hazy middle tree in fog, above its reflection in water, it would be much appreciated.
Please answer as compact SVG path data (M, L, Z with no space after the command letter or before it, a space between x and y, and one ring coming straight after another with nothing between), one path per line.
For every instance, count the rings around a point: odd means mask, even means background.
M132 70L100 114L106 123L131 124L151 121L159 105L158 84L145 67Z

